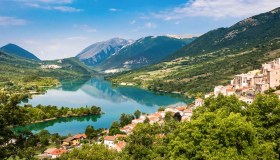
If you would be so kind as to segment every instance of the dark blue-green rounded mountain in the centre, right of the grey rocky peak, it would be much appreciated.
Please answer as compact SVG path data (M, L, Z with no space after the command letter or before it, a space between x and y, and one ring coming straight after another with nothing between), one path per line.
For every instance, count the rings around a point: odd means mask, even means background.
M149 36L123 47L96 68L110 70L129 70L160 62L176 50L192 42L195 38L174 38L169 36Z

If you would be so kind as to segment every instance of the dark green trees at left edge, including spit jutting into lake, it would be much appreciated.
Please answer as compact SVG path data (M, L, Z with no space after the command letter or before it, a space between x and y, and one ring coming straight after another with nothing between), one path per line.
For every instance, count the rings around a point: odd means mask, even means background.
M100 107L58 108L56 106L19 106L25 95L0 92L0 159L7 157L32 159L35 151L43 151L50 143L60 144L61 137L48 131L32 134L14 132L13 126L29 124L58 117L100 115ZM35 147L35 148L34 148ZM33 148L33 149L32 149ZM34 150L35 149L35 150ZM38 152L40 153L40 152ZM36 154L38 154L36 152Z

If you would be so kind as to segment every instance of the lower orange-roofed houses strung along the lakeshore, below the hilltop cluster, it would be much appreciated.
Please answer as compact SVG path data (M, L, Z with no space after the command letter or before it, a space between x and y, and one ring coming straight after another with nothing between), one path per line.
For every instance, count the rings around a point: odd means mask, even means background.
M177 118L180 121L190 121L193 110L196 107L202 106L203 100L196 99L194 104L189 106L177 106L177 107L168 107L163 111L158 111L149 115L141 115L138 119L132 120L131 124L128 124L120 129L123 134L116 134L113 136L108 135L109 130L104 130L104 136L100 135L98 138L98 144L105 145L107 148L116 150L117 152L121 152L125 146L125 138L132 134L133 129L136 127L138 123L148 122L150 124L162 124L164 123L164 117L166 113L171 112L174 115L177 114ZM159 137L164 137L164 135L159 135ZM102 140L103 139L103 140ZM42 154L38 155L40 159L55 159L60 157L63 153L69 152L74 148L80 148L84 143L83 141L87 140L87 136L85 134L77 134L74 136L67 137L63 140L61 144L61 148L49 148L45 150Z

